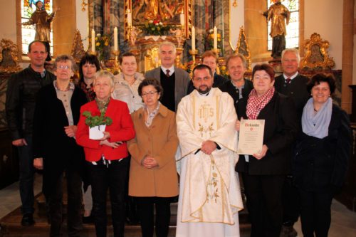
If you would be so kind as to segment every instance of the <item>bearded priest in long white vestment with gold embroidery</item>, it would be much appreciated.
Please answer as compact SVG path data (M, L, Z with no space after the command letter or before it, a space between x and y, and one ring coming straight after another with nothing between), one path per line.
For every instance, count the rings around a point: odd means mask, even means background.
M240 236L244 208L239 176L236 112L228 93L212 88L207 65L193 70L194 90L177 110L180 189L177 237Z

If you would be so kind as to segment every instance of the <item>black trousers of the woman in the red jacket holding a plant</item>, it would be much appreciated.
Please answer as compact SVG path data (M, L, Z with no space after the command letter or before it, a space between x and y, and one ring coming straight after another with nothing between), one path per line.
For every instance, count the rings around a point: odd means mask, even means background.
M90 182L92 185L93 209L95 232L98 237L106 236L108 218L106 214L106 198L110 189L112 212L112 227L115 237L124 236L125 226L125 184L127 178L128 159L112 164L97 165L87 162Z

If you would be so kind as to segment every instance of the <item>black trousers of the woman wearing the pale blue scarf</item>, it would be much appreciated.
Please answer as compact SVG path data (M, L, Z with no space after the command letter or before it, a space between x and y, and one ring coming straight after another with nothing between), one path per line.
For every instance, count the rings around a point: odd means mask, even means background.
M312 192L299 189L300 221L304 237L327 237L331 223L333 192Z

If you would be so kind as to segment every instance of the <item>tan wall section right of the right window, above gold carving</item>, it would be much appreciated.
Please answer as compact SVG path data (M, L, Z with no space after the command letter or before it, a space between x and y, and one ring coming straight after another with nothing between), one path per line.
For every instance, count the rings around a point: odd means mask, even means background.
M342 68L342 1L305 0L304 39L316 32L330 43L328 53L335 61L334 70ZM354 70L355 71L355 70Z

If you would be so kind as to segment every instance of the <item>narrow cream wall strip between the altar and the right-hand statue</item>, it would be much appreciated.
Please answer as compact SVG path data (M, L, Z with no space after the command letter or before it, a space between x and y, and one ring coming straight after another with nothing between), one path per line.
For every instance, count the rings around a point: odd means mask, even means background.
M234 0L230 1L230 46L233 50L236 49L237 41L239 40L240 26L245 26L244 23L244 0L238 0L237 6L232 6Z

